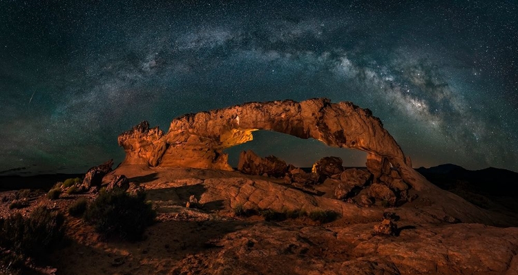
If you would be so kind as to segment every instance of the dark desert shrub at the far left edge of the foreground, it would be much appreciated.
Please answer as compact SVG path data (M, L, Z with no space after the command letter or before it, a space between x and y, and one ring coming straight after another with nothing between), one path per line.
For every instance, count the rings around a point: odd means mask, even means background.
M23 218L17 213L0 219L0 246L23 256L37 257L55 248L64 236L64 216L37 207Z

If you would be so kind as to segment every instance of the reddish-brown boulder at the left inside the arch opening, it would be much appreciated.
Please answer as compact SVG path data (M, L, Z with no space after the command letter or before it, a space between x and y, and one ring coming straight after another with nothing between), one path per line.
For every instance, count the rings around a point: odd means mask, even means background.
M238 170L249 175L263 175L281 178L287 172L287 164L284 160L270 155L261 158L253 151L242 151L239 155Z

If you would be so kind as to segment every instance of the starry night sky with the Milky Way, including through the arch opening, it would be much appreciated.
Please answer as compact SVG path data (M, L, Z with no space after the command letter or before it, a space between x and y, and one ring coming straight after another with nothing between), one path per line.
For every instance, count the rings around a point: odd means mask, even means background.
M414 167L518 171L517 1L0 0L0 171L84 172L148 120L250 101L370 108ZM340 155L260 131L229 149ZM12 170L14 169L14 170Z

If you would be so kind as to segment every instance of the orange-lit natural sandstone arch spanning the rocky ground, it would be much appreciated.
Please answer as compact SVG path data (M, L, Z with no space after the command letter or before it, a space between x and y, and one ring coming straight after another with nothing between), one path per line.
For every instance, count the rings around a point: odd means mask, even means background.
M171 122L166 134L142 122L119 135L118 142L126 151L122 164L231 170L222 151L249 142L257 130L366 151L367 168L375 178L396 171L418 190L429 186L369 109L325 98L249 102L183 115Z

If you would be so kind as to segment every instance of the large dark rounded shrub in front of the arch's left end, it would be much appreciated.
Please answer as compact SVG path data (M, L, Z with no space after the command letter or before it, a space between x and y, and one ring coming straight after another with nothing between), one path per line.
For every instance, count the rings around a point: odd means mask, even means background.
M146 203L146 193L130 196L122 190L101 192L86 209L84 218L105 236L139 240L153 224L156 212Z

